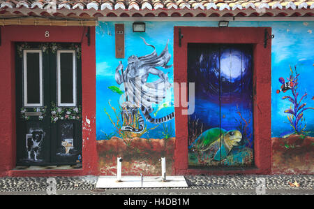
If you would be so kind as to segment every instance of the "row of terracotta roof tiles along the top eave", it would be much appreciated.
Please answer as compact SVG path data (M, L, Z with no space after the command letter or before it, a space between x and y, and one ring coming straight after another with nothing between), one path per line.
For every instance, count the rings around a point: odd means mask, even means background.
M241 12L246 16L256 12L253 10L266 10L267 12L274 13L292 13L300 12L313 16L314 0L285 0L285 1L269 1L269 0L80 0L80 1L64 1L64 0L0 0L0 12L6 11L8 13L17 13L17 11L24 15L29 13L40 14L40 10L47 10L54 8L54 13L87 13L93 17L96 13L106 16L108 13L115 13L119 16L122 12L141 13L154 13L158 16L159 13L196 13L204 12L206 15L212 13L224 15L225 13L232 13L237 15ZM31 10L31 11L29 11ZM4 12L3 12L4 13ZM182 15L182 16L183 16Z

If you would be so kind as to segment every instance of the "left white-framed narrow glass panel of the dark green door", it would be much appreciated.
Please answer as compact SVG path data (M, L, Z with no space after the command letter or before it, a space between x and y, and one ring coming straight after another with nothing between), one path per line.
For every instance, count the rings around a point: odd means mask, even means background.
M24 50L24 106L43 106L42 52Z

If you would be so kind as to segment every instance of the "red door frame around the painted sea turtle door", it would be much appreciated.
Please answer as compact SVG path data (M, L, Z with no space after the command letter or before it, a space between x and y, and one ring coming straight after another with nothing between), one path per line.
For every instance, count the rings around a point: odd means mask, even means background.
M181 29L181 47L179 46ZM255 167L237 169L188 168L188 115L182 106L175 108L176 147L174 167L176 175L201 173L271 173L271 39L264 48L264 30L269 27L174 27L174 82L187 82L188 43L250 43L253 44L253 115ZM180 103L179 95L174 96Z

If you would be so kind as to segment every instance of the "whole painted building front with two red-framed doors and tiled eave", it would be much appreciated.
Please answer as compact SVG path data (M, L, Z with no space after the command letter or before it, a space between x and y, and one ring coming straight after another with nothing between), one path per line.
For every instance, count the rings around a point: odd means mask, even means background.
M313 1L0 5L1 176L313 174Z

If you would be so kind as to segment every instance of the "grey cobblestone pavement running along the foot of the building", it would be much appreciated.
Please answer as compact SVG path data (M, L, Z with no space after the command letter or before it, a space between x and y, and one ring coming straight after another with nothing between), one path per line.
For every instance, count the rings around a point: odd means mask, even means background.
M264 178L265 194L313 195L314 175L187 175L186 188L128 188L96 189L97 176L76 177L5 177L0 178L0 195L47 194L55 180L56 194L93 195L208 195L208 194L257 194L257 178ZM297 182L292 187L289 182ZM260 187L259 187L260 188Z

